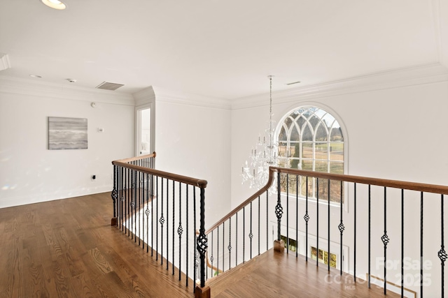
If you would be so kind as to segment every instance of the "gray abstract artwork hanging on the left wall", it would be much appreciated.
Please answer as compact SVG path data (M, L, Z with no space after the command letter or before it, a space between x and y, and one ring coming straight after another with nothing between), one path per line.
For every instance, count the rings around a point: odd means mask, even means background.
M48 117L48 149L87 149L87 119Z

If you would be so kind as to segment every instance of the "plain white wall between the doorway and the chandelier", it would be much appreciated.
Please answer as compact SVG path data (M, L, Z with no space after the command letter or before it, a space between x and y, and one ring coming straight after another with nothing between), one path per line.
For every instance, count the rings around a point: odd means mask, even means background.
M216 98L164 92L155 89L156 167L208 181L209 226L230 211L230 105Z

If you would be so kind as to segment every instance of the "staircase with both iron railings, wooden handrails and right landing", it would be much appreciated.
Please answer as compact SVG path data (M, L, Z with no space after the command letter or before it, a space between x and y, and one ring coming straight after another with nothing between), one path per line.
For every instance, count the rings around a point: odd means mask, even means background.
M112 223L196 297L444 297L447 186L270 167L206 231L207 181L140 159L113 162Z

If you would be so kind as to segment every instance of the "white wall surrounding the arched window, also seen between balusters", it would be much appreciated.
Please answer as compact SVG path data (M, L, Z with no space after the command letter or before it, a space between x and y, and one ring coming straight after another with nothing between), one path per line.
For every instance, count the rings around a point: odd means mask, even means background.
M377 77L375 77L375 80ZM370 87L340 88L305 92L301 89L274 93L274 119L281 117L301 105L314 104L323 109L327 108L342 120L345 126L346 174L416 181L429 184L448 185L448 139L444 137L447 128L446 114L448 110L448 80L446 75L425 75L421 80L405 83L396 80L395 85L375 84ZM359 83L359 82L358 82ZM361 87L360 87L361 86ZM265 96L266 97L266 96ZM262 96L258 98L262 100ZM256 104L255 98L246 98L235 104L232 110L232 207L246 200L254 191L248 185L241 185L241 165L246 161L255 138L269 117L266 100ZM252 137L249 137L252 136ZM377 192L382 195L381 191ZM358 260L367 259L367 201L363 194L363 201L358 201ZM383 209L382 197L373 201L372 218L377 223L372 232L374 249L372 255L382 255ZM440 290L440 261L437 251L440 249L440 196L426 198L425 202L425 239L426 260L432 262L430 271L432 287L426 294L434 291L431 297L439 295ZM431 200L431 201L430 201ZM419 260L419 200L406 200L405 255L412 260ZM414 204L410 206L410 204ZM283 202L284 203L284 202ZM418 206L416 205L418 204ZM295 209L295 207L293 207ZM304 204L300 202L300 225L303 230ZM310 216L315 221L315 204L310 206ZM326 237L326 206L321 209L321 236ZM389 235L393 242L389 244L389 256L400 258L400 204L390 204L388 209ZM332 207L333 241L339 240L339 207ZM434 216L435 215L435 216ZM274 212L272 211L272 221ZM353 195L349 197L348 207L344 211L346 230L345 243L349 245L350 269L353 270ZM295 221L294 219L291 221ZM311 223L311 221L310 221ZM311 233L315 234L315 223ZM350 227L350 228L349 228ZM325 228L325 229L324 229ZM320 230L320 229L319 229ZM430 242L432 241L432 242ZM431 246L429 245L430 243ZM326 247L325 247L326 248ZM372 260L374 267L375 259ZM399 268L398 268L399 270ZM367 265L358 263L357 274L364 275ZM381 277L381 268L374 269L374 274ZM395 274L396 271L393 271ZM399 271L398 271L399 273ZM418 273L418 272L415 272ZM414 274L414 271L412 271ZM365 275L364 275L365 276ZM391 277L391 276L389 276ZM390 281L398 278L392 276ZM409 287L412 288L412 287ZM418 290L412 288L412 290ZM429 292L428 292L429 291Z

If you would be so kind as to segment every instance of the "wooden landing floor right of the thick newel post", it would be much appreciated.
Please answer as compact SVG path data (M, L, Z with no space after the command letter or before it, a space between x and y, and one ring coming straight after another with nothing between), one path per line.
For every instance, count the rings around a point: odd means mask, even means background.
M207 281L211 297L400 297L393 292L385 296L383 289L358 281L353 276L339 271L330 271L327 267L316 267L316 262L305 262L295 253L276 253L272 249L244 265L220 274Z

